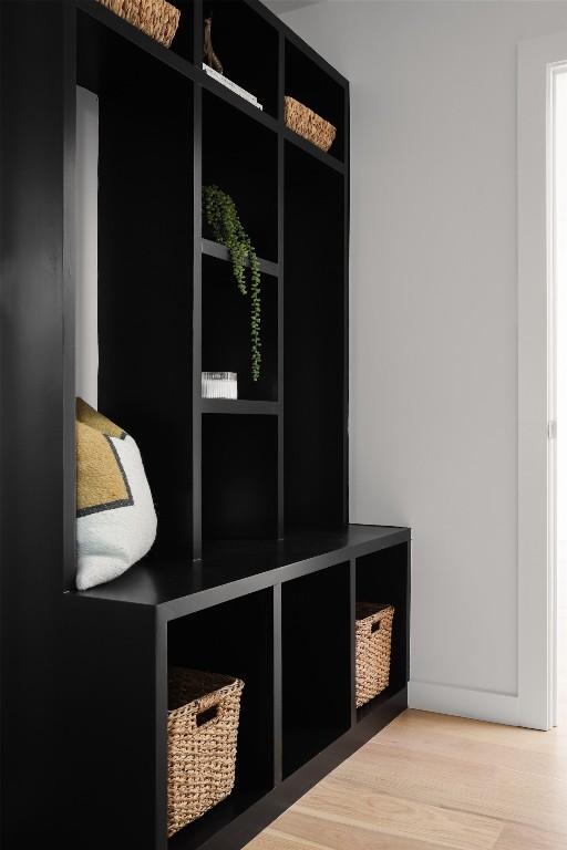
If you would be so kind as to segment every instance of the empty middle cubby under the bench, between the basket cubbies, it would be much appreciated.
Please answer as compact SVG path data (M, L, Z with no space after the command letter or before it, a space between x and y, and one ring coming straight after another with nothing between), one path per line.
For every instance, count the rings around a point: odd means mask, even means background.
M281 585L284 777L350 726L349 570L340 563Z

